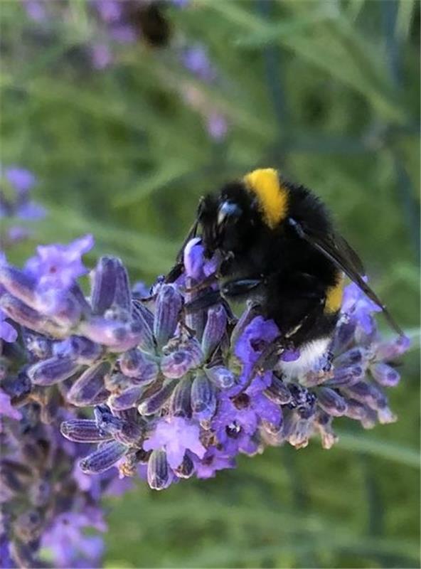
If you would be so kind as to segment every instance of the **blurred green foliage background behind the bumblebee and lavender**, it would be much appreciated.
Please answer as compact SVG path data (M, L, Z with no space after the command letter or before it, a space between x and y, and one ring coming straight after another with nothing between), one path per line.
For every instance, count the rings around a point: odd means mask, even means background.
M92 2L46 4L34 18L1 2L1 164L33 171L49 212L11 261L90 232L89 262L117 254L151 283L202 193L275 166L331 206L416 347L417 1L170 3L163 48L115 41ZM95 46L112 55L103 68ZM186 68L189 48L205 50L209 76ZM419 566L415 347L390 393L394 425L336 420L329 452L270 449L212 480L110 500L107 567Z

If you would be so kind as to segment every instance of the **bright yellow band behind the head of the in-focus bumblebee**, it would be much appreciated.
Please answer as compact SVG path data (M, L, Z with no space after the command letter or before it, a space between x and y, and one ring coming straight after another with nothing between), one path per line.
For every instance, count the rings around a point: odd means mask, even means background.
M275 228L287 217L288 209L288 190L282 186L279 174L273 168L265 168L250 172L243 180L257 196L265 223Z

